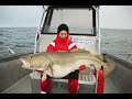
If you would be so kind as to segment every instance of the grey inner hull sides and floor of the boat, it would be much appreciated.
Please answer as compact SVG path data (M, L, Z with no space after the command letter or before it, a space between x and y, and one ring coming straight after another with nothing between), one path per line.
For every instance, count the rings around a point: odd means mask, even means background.
M103 94L132 94L132 64L111 55L105 59L116 64L114 70L105 78ZM2 61L3 62L3 61ZM0 94L40 94L38 79L31 78L32 72L23 69L19 59L0 64ZM68 94L68 82L53 80L51 94ZM80 81L78 94L96 94L95 81Z

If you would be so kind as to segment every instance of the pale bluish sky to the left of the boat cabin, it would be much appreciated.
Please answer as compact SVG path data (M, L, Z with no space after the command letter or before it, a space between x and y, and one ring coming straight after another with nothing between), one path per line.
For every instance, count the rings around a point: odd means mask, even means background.
M0 6L1 26L38 26L42 6Z

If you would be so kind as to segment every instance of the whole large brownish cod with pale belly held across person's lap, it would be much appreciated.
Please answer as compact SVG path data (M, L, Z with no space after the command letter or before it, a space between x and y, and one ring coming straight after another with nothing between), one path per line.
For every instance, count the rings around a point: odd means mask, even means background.
M79 68L80 65L91 66L95 65L97 69L103 66L105 76L113 70L113 65L103 63L96 55L89 53L89 51L74 50L70 52L41 52L36 54L24 55L20 57L24 68L28 69L41 69L44 74L61 78L65 77L72 72Z

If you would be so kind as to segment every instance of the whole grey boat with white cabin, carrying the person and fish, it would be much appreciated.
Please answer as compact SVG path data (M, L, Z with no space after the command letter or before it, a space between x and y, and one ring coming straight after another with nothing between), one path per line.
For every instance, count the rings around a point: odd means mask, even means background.
M116 65L113 72L99 80L100 70L79 73L78 94L131 94L132 64L110 53L100 52L100 6L43 6L44 12L34 35L34 51L14 54L0 59L0 92L1 94L41 94L40 74L22 68L20 56L44 52L51 40L56 36L56 29L61 23L69 25L70 40L81 50L91 54L102 54L105 62ZM42 46L43 45L43 46ZM90 69L91 70L91 69ZM52 79L51 94L68 94L67 79ZM101 92L98 91L99 87Z

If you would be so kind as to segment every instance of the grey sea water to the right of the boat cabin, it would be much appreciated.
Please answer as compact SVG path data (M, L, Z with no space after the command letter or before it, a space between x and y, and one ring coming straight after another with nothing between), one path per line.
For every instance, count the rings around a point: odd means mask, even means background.
M101 52L132 63L132 30L101 29Z

